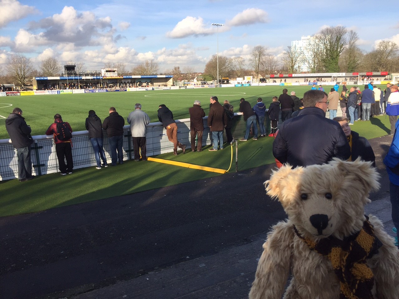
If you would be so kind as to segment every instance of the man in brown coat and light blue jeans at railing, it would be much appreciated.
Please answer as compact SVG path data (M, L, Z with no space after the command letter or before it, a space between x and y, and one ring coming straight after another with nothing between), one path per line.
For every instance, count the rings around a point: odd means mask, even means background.
M223 106L217 100L217 96L212 96L209 100L211 108L208 115L208 127L212 132L213 148L209 151L217 151L217 147L223 149L223 130L227 124L227 116L224 112Z

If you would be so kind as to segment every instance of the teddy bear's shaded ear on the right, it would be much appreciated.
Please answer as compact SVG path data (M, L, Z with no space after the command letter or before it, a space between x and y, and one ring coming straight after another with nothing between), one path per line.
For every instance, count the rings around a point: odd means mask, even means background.
M334 158L330 164L336 164L339 171L346 173L347 176L351 177L351 184L356 184L358 187L363 187L363 190L368 193L373 190L379 189L380 184L378 179L380 175L374 167L371 167L370 161L363 161L360 158L355 161L342 161L338 158Z

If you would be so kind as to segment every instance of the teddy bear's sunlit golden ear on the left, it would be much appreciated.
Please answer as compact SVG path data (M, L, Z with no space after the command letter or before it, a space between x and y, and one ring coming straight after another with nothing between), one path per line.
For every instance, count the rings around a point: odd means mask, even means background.
M303 172L303 167L296 167L284 164L280 169L273 170L270 179L265 181L266 194L271 198L278 198L285 206L288 200L285 195L290 194L289 189L295 188L295 182L298 182L298 175Z

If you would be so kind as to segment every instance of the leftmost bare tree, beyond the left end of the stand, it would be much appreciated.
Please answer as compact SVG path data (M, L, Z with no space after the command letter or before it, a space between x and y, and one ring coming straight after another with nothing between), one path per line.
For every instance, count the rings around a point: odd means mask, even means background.
M33 65L30 58L18 52L8 58L7 68L10 77L20 85L25 86L26 82L30 80Z

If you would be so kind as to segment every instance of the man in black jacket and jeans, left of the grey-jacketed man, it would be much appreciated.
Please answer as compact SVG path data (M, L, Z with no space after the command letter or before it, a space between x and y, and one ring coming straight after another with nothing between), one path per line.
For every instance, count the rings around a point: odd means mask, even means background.
M107 130L112 166L117 165L118 158L119 164L123 164L123 126L124 118L118 114L115 107L109 108L109 116L105 118L102 128Z

